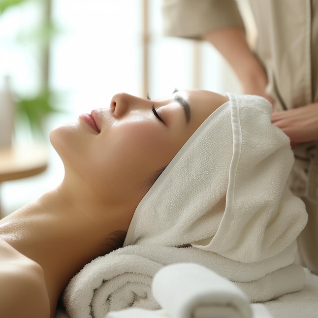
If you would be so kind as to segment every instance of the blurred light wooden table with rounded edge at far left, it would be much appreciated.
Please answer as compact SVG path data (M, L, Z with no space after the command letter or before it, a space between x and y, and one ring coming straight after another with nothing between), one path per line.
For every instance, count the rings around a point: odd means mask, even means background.
M0 148L1 182L34 176L46 170L47 148L43 145L13 146ZM2 217L0 202L0 218Z

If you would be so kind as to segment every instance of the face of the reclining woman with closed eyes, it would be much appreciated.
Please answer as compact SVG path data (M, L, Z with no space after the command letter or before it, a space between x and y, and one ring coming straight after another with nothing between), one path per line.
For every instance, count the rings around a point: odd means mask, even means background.
M228 99L186 90L160 100L116 94L107 108L94 109L51 133L66 169L75 171L109 203L139 203L149 177L166 167L200 124ZM132 201L131 201L132 200Z

